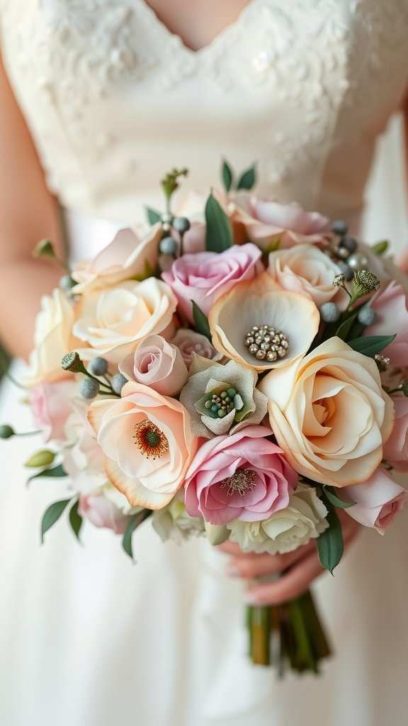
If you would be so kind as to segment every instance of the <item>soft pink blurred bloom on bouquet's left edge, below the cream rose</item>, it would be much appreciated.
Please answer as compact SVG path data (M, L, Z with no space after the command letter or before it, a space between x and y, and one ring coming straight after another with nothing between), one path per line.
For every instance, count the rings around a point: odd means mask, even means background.
M34 425L41 428L44 441L65 439L64 426L72 413L71 399L76 382L59 380L54 383L38 383L30 389L29 400Z

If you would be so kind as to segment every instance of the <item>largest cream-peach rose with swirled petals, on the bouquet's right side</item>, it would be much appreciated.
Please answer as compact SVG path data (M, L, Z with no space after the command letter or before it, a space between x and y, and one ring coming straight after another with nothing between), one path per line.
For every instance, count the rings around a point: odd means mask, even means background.
M380 464L393 428L393 402L373 359L330 338L259 383L287 460L314 481L349 486Z

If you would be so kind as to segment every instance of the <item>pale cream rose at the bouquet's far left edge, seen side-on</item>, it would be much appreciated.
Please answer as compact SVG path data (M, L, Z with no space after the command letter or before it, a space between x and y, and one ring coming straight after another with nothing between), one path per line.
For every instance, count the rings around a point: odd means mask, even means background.
M26 386L66 378L61 367L62 357L79 342L73 335L73 322L73 307L61 290L56 288L52 296L43 295L34 330L35 348L30 353L30 370L24 381Z

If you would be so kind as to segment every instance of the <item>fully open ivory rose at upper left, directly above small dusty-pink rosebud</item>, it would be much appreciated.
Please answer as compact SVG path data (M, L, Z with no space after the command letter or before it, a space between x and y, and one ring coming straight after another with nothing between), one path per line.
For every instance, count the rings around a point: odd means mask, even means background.
M176 305L171 288L154 277L143 282L128 280L84 295L73 330L89 347L78 348L78 352L85 360L97 352L118 363L148 335L163 333L171 326ZM72 346L65 352L70 349Z

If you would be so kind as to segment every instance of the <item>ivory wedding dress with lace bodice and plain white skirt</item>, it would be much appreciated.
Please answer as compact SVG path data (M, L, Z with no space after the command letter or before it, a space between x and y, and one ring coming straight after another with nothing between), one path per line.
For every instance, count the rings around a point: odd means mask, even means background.
M163 208L174 166L190 170L184 190L216 186L221 157L256 162L261 195L358 229L375 139L408 83L406 0L252 0L198 52L144 0L0 0L0 28L76 258ZM23 430L20 398L4 385L0 419ZM39 547L62 484L26 489L33 441L0 444L2 725L406 723L408 511L317 582L336 652L322 677L280 682L246 659L244 585L224 555L163 544L149 523L136 565L91 526L83 547L62 522Z

